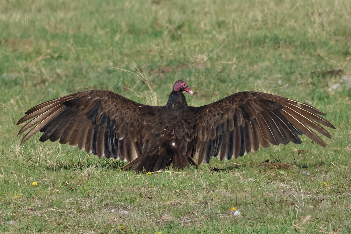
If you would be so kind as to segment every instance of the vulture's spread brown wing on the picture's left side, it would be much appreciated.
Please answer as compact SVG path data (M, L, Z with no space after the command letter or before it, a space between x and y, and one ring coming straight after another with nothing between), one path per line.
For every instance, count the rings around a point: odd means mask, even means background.
M29 109L17 123L32 119L18 134L33 127L21 144L39 131L40 141L57 141L86 152L132 161L155 147L163 131L161 110L107 90L70 94Z

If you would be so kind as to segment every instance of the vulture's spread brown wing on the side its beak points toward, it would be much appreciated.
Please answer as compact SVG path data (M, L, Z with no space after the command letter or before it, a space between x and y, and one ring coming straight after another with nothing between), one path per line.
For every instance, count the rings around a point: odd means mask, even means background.
M299 144L302 134L325 147L314 131L328 138L331 135L318 123L335 129L319 116L325 115L323 112L310 105L260 92L236 93L192 112L197 122L198 164L208 163L211 156L237 158L270 143Z

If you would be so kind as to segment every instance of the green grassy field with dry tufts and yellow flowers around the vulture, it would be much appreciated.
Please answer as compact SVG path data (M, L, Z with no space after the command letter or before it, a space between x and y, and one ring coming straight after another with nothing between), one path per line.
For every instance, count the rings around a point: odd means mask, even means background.
M2 0L0 232L351 233L349 5ZM269 92L320 108L336 130L326 148L303 137L151 175L39 134L20 146L15 123L43 101L110 89L165 105L178 79L193 106Z

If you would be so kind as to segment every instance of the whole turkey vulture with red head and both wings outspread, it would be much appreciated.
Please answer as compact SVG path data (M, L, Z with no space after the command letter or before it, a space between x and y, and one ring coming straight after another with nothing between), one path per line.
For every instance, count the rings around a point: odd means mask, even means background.
M239 92L211 104L188 106L181 80L174 83L166 106L147 106L107 90L90 90L44 102L17 123L33 127L21 144L39 131L40 141L78 145L99 158L128 161L124 168L146 172L238 158L259 146L300 144L299 135L325 147L314 132L331 138L321 125L335 127L318 109L261 92Z

